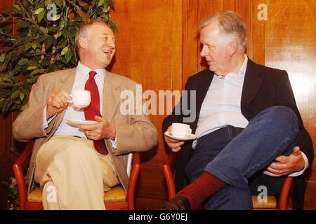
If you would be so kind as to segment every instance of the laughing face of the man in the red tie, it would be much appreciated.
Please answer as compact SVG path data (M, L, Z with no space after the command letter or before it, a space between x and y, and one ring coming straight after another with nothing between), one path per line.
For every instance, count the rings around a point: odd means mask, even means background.
M79 39L79 55L81 64L90 69L107 67L115 54L115 38L112 29L96 22Z

